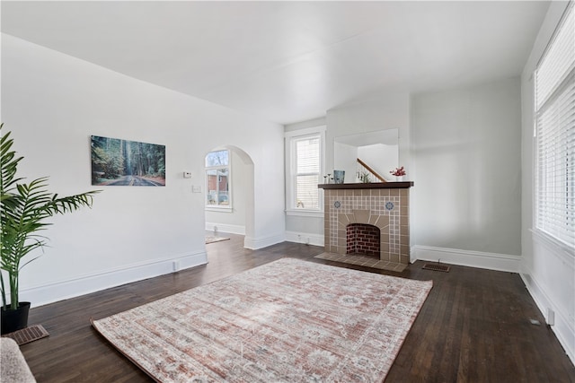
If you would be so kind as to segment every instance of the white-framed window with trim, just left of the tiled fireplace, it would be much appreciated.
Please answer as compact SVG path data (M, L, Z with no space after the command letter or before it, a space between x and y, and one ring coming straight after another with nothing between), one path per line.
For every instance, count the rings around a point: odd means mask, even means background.
M286 134L288 212L321 212L324 127Z

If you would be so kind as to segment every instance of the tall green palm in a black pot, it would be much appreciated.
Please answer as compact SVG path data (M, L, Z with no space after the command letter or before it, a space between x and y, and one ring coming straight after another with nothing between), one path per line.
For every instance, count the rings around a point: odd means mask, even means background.
M0 131L3 126L4 124L0 124ZM73 212L82 206L91 207L93 195L99 192L99 190L93 190L75 196L61 197L49 193L46 177L23 183L24 178L16 177L18 163L23 157L16 156L12 145L13 139L10 138L10 132L2 135L0 139L2 334L28 326L30 302L19 300L18 283L22 267L37 258L28 259L26 256L30 255L32 250L43 248L46 244L47 238L39 234L39 231L50 225L45 220L54 214ZM4 277L8 280L7 287L4 284ZM6 299L8 293L9 303Z

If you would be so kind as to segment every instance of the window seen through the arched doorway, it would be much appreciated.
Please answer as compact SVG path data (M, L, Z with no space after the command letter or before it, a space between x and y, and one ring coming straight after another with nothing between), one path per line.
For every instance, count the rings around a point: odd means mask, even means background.
M206 156L206 205L231 208L230 152L208 152Z

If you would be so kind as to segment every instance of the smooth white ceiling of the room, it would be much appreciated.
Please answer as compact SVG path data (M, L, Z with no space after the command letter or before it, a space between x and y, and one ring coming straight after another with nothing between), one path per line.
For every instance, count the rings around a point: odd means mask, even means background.
M2 1L2 31L280 124L521 73L549 2Z

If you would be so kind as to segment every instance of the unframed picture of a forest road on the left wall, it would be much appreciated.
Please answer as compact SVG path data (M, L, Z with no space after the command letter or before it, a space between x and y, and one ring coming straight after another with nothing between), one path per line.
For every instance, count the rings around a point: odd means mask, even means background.
M93 135L92 185L164 187L165 145Z

